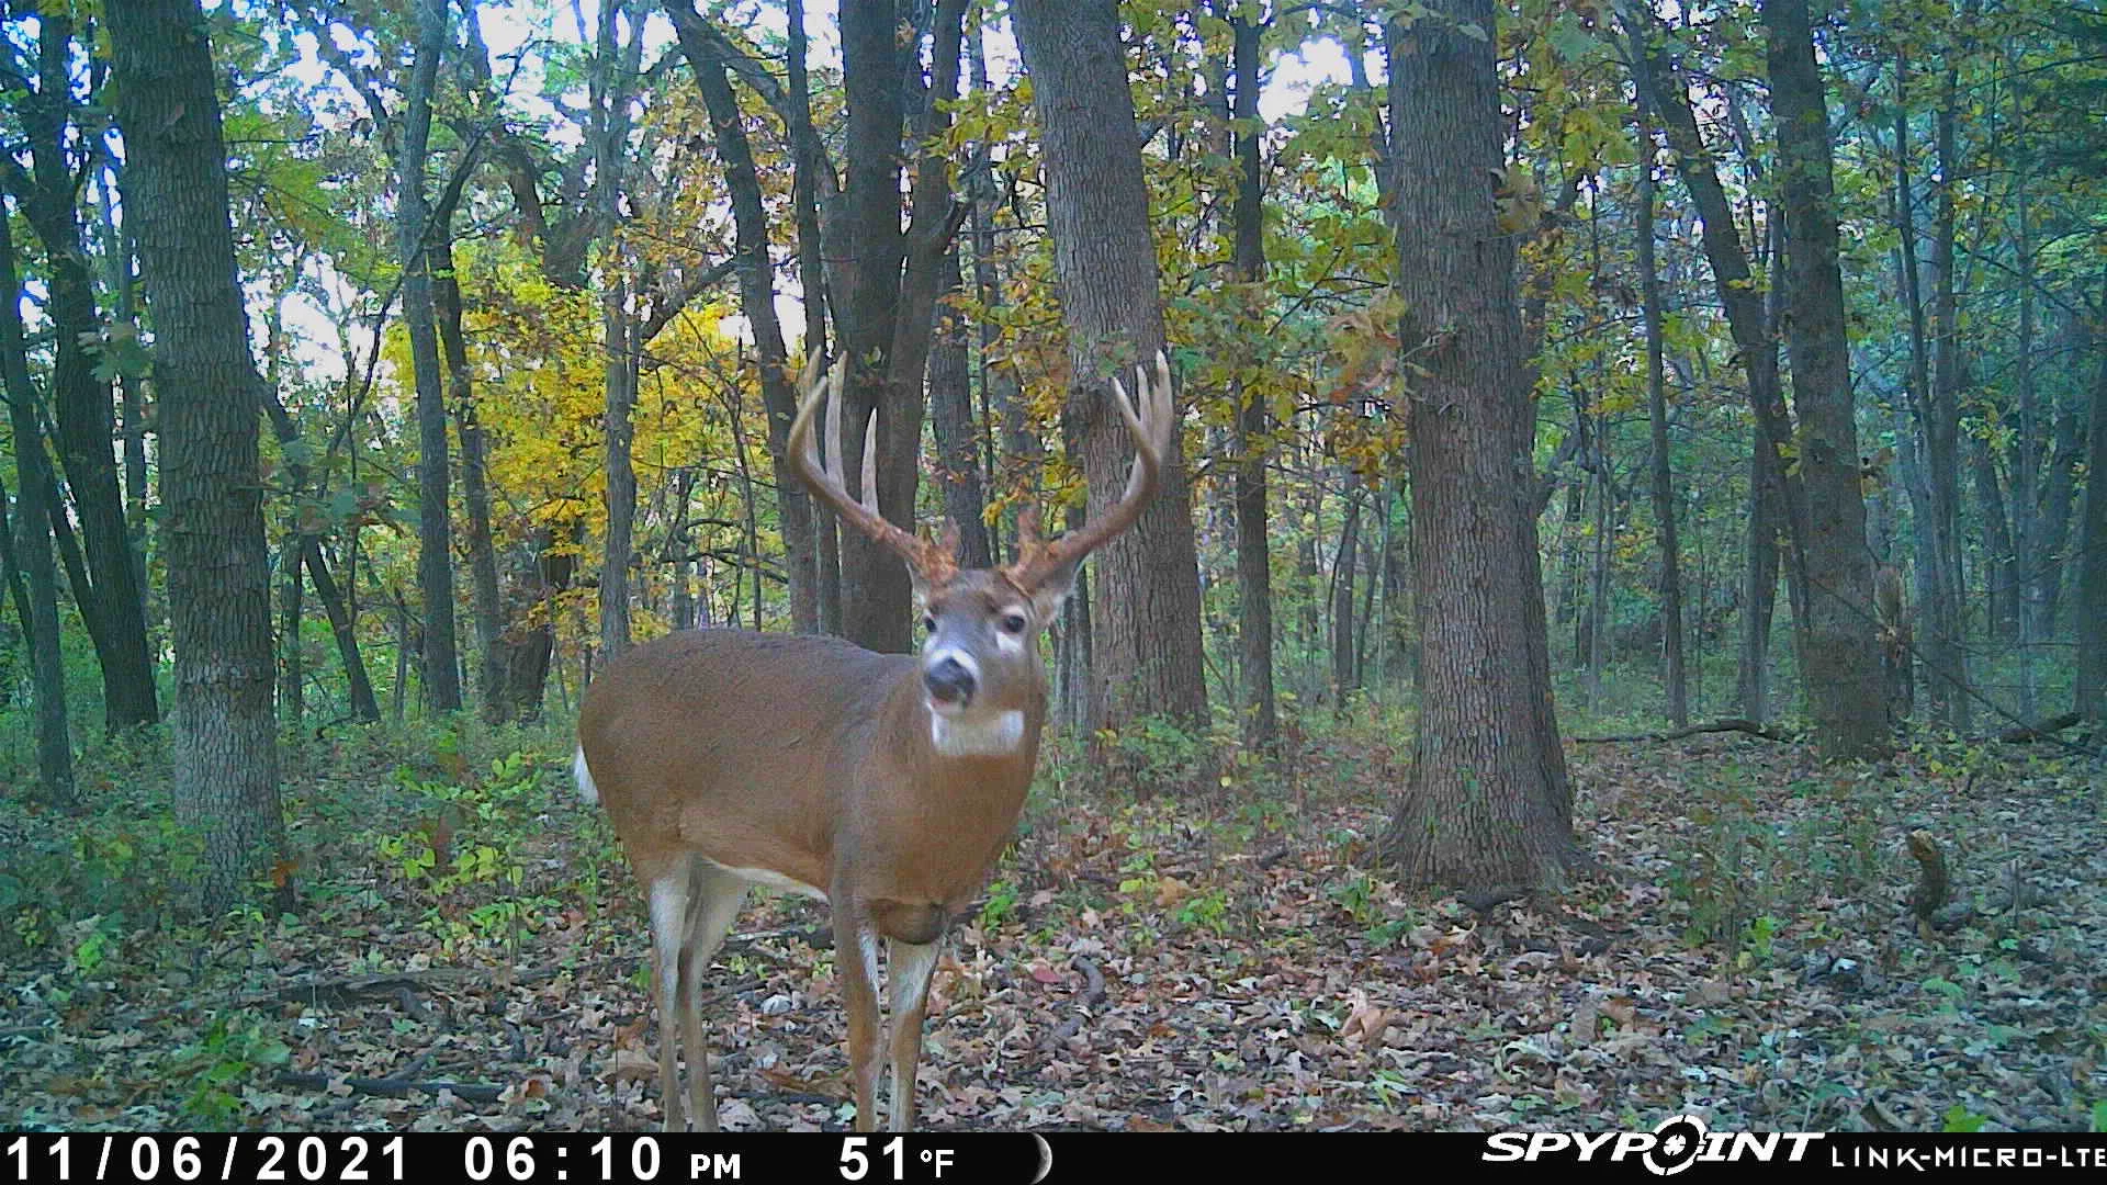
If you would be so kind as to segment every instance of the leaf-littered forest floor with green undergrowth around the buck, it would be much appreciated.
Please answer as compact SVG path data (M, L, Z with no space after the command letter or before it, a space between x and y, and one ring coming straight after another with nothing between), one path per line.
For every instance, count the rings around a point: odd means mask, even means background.
M2096 759L1570 744L1595 867L1479 913L1359 867L1397 736L1146 797L1051 763L936 972L923 1126L2107 1128ZM287 755L289 915L169 905L192 856L150 763L93 816L0 803L0 1128L653 1128L641 894L565 742L400 740ZM1909 909L1917 829L1943 930ZM733 934L725 1126L841 1128L826 907L756 894Z

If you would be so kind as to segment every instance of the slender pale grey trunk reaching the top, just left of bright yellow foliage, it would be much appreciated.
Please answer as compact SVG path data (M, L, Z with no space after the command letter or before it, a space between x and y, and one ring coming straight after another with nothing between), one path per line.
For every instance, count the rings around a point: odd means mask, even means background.
M432 143L432 91L447 46L447 0L417 2L417 59L402 105L402 152L396 158L396 236L402 259L402 325L409 331L411 371L417 386L417 590L424 597L426 694L440 713L461 706L461 666L453 643L453 525L447 508L447 388L438 371L438 329L432 299L434 238L453 234L436 226L424 192Z

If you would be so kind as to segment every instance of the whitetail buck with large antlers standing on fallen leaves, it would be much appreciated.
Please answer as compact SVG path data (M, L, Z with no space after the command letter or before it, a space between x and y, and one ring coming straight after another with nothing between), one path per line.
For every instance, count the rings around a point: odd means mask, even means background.
M1018 563L961 571L944 544L879 517L877 420L864 434L864 498L845 489L843 365L801 380L790 428L799 474L843 523L908 563L921 654L872 654L832 637L674 633L611 662L586 694L573 772L600 801L651 900L659 1090L685 1126L674 1023L687 1050L687 1115L716 1130L700 987L750 886L832 902L834 966L849 1012L855 1126L877 1126L879 938L891 987L891 1128L914 1126L923 1010L946 924L980 890L1024 805L1045 721L1045 628L1077 565L1125 531L1176 447L1169 365L1115 380L1136 458L1119 504L1051 542L1024 525ZM826 464L813 420L826 405Z

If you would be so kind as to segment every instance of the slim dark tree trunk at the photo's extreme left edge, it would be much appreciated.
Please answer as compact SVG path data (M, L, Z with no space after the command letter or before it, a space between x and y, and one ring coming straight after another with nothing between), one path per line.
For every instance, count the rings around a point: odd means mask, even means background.
M36 384L21 329L21 272L15 234L0 217L0 380L15 428L15 555L27 576L21 630L29 643L29 687L36 696L38 791L53 805L74 801L74 738L65 719L65 660L59 652L59 567L51 557L51 458L36 430ZM4 529L4 527L0 527ZM21 603L17 601L17 607Z

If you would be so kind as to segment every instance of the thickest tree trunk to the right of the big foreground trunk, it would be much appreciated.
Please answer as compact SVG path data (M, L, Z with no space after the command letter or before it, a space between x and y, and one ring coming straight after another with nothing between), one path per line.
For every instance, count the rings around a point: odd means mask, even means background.
M1829 110L1808 0L1766 0L1770 103L1778 124L1787 247L1787 352L1806 487L1806 614L1799 664L1814 742L1831 757L1888 746L1888 698L1873 616L1873 563L1858 485Z

